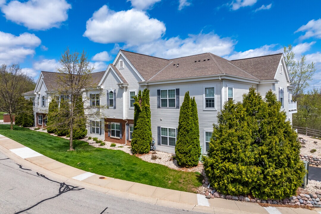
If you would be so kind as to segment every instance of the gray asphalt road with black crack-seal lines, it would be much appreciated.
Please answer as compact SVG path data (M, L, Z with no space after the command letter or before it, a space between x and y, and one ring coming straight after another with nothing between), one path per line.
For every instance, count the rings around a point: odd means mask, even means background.
M19 166L0 152L0 213L193 213L69 186Z

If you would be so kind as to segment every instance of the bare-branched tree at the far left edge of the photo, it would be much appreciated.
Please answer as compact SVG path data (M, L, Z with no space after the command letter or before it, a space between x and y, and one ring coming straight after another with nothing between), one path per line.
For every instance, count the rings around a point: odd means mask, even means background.
M19 107L22 93L34 89L35 82L23 73L19 64L0 67L0 109L10 115L10 129L13 130L13 114Z

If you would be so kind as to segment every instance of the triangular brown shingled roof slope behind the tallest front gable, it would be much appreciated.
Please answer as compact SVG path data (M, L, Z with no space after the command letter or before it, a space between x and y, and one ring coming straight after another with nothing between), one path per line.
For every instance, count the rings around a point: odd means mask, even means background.
M170 63L167 59L121 51L146 81Z

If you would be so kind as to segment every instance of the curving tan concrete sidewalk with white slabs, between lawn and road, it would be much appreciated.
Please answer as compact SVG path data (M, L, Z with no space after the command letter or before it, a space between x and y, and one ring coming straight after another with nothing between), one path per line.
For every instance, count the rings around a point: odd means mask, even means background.
M21 164L60 182L84 187L135 201L207 213L233 214L320 214L321 209L307 210L288 207L261 207L257 203L220 198L206 199L204 195L169 190L160 187L119 180L85 172L48 158L0 134L0 151Z

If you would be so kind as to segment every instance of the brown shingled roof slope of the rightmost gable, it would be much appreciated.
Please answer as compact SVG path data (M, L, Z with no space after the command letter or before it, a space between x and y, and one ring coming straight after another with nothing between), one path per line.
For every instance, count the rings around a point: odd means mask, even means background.
M279 66L282 53L231 60L230 63L252 74L259 80L273 80Z

